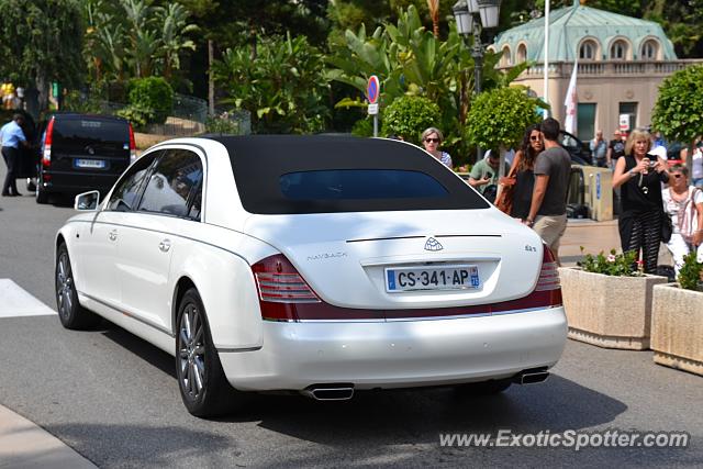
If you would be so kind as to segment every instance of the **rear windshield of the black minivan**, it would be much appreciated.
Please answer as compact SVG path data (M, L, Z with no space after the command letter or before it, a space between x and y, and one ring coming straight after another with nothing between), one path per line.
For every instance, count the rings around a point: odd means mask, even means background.
M130 152L130 127L125 121L56 118L52 138L52 147L57 152L108 156Z

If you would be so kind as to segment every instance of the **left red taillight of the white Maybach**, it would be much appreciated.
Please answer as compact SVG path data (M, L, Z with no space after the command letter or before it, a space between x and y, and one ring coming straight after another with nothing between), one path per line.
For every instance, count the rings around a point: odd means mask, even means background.
M269 256L252 266L265 320L297 321L295 304L320 303L298 270L282 254Z

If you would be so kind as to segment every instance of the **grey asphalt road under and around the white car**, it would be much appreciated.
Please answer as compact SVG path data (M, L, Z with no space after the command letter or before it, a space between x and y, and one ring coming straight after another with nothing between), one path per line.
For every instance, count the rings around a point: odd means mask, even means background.
M69 203L0 199L0 279L51 308L53 239ZM104 468L703 466L703 378L656 366L650 351L569 340L547 382L494 398L453 389L360 393L342 403L263 395L238 415L205 421L182 406L174 359L107 322L72 332L56 316L0 319L0 404ZM440 433L609 428L684 431L691 443L579 451L439 445Z

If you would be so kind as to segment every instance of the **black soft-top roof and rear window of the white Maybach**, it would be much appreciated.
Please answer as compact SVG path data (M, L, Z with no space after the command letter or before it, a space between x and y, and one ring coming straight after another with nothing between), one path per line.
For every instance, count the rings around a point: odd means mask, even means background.
M217 137L244 209L260 214L486 209L466 182L423 149L333 136Z

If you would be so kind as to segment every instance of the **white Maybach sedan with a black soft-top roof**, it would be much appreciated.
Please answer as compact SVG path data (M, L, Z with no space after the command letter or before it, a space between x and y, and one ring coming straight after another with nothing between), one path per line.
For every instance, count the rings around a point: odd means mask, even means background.
M60 322L100 315L172 354L194 415L249 391L496 393L565 346L539 236L404 142L179 138L99 198L56 236Z

